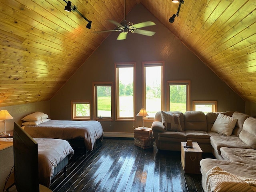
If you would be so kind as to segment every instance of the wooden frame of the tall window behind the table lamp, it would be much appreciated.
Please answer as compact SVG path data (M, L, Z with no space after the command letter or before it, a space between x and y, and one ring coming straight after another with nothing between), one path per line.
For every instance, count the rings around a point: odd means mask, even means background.
M161 110L164 110L164 61L142 62L142 108L146 109L146 67L161 66ZM147 110L147 109L146 109ZM145 122L152 122L154 117L145 117Z

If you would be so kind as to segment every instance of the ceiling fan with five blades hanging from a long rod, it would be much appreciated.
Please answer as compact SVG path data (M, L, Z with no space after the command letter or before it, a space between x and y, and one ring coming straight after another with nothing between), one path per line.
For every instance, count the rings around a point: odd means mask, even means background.
M124 4L125 4L124 5L124 22L118 23L114 20L108 20L112 24L115 24L116 28L113 29L113 30L98 31L98 32L95 32L95 33L110 32L110 31L122 31L118 35L118 37L116 38L117 40L126 39L126 36L127 36L129 31L132 32L132 33L138 33L138 34L146 35L146 36L152 36L156 33L156 32L153 32L153 31L138 29L138 28L142 28L142 27L155 25L155 23L152 22L152 21L146 21L146 22L142 22L142 23L138 23L138 24L133 24L132 22L127 21L126 20L126 0L124 0Z

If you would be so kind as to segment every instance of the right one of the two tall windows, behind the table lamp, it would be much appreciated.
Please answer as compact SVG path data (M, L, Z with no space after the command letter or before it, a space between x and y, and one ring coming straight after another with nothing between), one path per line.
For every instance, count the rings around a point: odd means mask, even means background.
M163 68L164 62L142 62L143 66L143 106L148 120L153 120L156 112L164 110Z

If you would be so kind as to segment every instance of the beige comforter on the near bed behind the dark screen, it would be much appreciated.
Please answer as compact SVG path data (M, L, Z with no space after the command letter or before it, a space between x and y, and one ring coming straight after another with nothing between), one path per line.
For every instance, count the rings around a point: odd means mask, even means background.
M38 144L38 172L40 184L49 187L54 167L66 156L68 159L74 150L66 140L62 139L34 139Z

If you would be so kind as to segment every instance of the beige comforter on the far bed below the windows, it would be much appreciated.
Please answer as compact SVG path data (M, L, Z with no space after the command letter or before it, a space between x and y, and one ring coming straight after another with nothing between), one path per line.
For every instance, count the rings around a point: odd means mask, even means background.
M98 121L50 120L35 126L25 126L24 130L32 138L83 138L88 150L93 150L94 142L103 138L103 129Z

